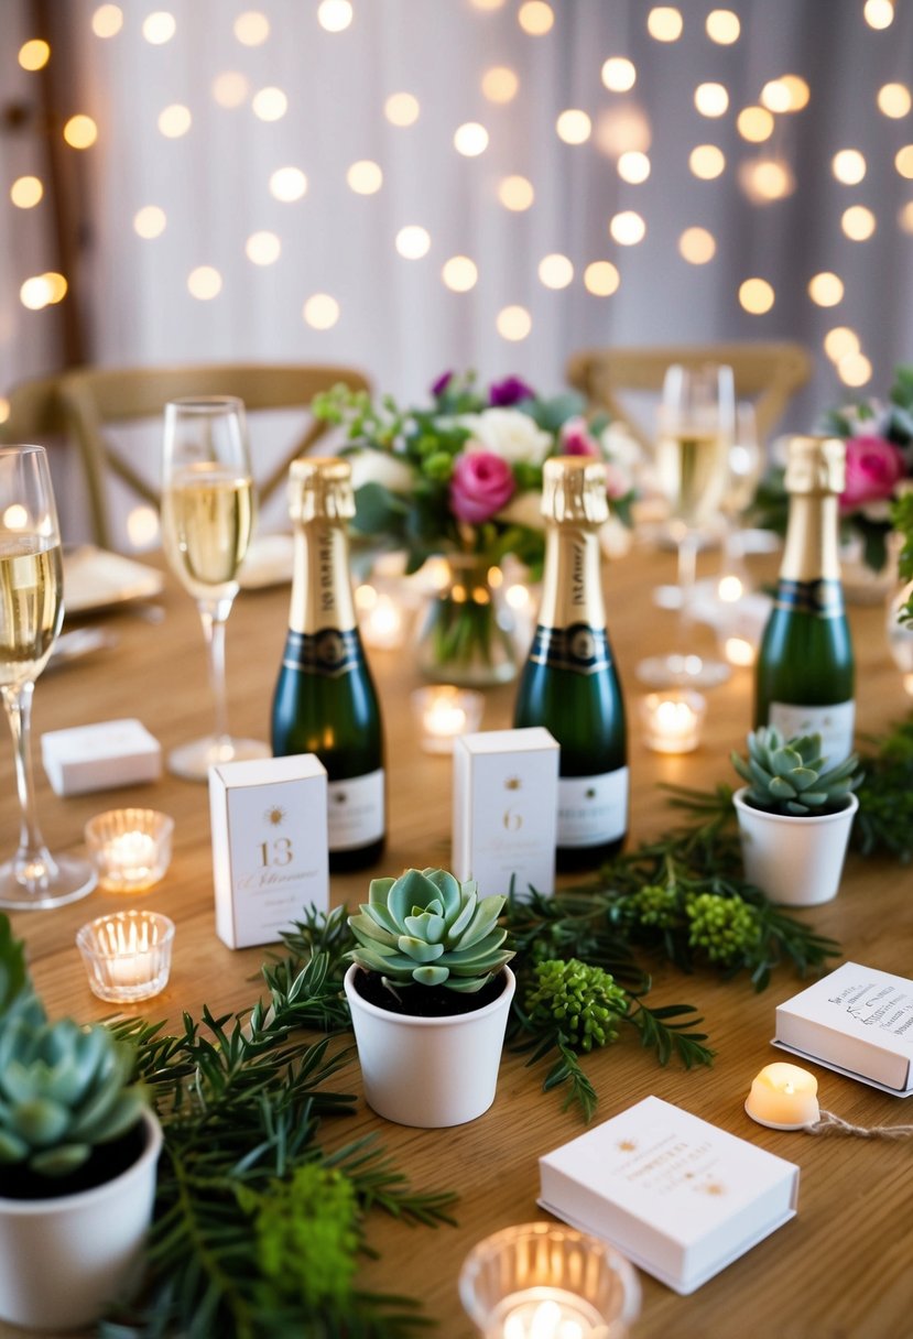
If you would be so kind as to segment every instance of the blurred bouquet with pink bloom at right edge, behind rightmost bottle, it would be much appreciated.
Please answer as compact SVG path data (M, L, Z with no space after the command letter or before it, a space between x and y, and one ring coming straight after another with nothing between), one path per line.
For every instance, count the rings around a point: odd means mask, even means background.
M880 570L888 558L893 529L892 499L902 490L904 481L913 478L913 364L894 370L888 404L865 399L827 410L815 431L846 442L843 538L858 538L866 566ZM782 470L772 470L762 481L754 510L759 524L780 533L786 529Z

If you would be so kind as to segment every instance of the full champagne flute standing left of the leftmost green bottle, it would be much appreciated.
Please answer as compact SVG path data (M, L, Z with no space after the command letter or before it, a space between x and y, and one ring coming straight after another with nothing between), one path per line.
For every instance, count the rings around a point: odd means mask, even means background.
M244 403L232 395L170 400L165 406L162 537L174 574L199 609L216 707L213 734L169 755L169 769L186 781L206 781L218 763L269 757L266 743L232 738L225 691L225 623L238 593L254 506Z

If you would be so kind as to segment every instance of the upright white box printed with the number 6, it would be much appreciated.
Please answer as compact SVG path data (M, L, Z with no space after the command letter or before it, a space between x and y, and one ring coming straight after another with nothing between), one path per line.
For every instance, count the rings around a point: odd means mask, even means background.
M482 897L554 892L558 743L542 726L454 742L452 870Z

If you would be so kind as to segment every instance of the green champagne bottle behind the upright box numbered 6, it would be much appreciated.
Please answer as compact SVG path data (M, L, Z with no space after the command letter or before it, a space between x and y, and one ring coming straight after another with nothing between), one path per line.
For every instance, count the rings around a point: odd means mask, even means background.
M561 746L558 869L593 869L628 830L627 730L606 635L597 530L608 518L605 466L545 462L545 577L538 627L521 676L515 726L545 726Z

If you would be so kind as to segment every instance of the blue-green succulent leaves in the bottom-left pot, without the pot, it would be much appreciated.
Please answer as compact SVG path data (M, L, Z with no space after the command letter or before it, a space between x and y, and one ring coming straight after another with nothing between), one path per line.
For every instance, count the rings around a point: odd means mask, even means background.
M3 920L0 977L20 980L21 988L0 1020L0 1166L63 1177L78 1170L95 1145L126 1134L139 1121L146 1095L130 1083L129 1043L100 1023L48 1022L24 971L21 944Z

